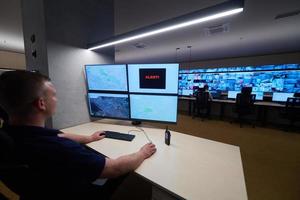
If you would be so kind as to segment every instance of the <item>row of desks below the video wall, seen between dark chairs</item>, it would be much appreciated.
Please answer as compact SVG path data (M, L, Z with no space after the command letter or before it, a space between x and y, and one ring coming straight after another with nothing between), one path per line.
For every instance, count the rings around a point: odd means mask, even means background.
M188 101L188 107L189 107L189 115L192 114L193 110L193 103L196 101L196 97L178 97L179 100ZM220 104L220 119L223 119L224 117L224 110L225 106L227 104L235 104L235 100L231 99L212 99L212 103ZM284 108L284 104L279 104L275 102L266 102L266 101L256 101L254 102L254 105L258 107L258 115L257 115L257 121L261 121L262 125L266 124L266 116L267 112L270 107L272 108Z

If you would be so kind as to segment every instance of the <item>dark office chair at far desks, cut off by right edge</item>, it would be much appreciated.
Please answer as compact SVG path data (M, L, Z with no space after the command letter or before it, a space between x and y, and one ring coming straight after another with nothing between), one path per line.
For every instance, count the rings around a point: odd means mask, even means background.
M300 97L287 98L285 108L280 114L290 121L289 129L293 129L295 122L300 121Z

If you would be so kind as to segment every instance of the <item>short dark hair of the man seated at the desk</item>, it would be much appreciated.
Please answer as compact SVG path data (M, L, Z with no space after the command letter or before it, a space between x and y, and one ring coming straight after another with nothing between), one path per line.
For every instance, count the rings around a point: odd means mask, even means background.
M8 71L0 75L0 106L9 114L28 114L49 77L39 72Z

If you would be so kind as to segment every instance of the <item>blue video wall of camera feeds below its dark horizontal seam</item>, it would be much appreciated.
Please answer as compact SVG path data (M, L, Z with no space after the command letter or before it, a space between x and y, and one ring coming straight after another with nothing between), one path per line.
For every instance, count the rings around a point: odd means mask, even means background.
M193 88L207 84L209 90L237 91L243 86L254 92L300 92L300 70L179 75L179 95L192 95Z

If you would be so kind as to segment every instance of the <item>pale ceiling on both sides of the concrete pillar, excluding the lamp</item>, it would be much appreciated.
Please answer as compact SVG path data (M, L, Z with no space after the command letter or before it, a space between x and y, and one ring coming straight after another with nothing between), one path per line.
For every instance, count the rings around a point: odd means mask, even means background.
M115 33L221 2L224 0L115 0ZM116 61L174 62L300 51L300 15L274 19L295 10L300 10L299 0L245 0L241 14L116 46ZM221 24L228 24L229 31L205 35L205 28ZM136 48L136 43L146 47ZM180 48L177 54L176 48ZM0 50L24 52L20 0L0 0Z

